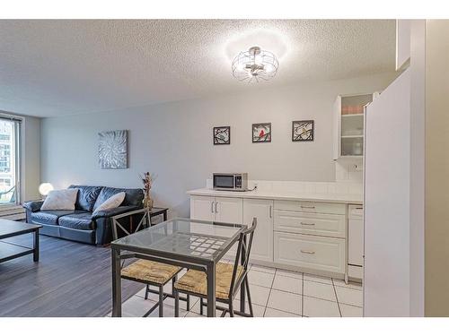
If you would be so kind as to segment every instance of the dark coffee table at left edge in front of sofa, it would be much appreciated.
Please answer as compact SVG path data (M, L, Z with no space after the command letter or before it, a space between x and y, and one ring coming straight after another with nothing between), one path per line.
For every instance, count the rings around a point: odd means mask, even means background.
M23 223L14 220L0 220L0 263L4 263L14 258L19 258L26 254L33 255L33 261L39 261L39 229L41 225ZM13 242L6 242L2 239L33 234L32 247L22 246Z

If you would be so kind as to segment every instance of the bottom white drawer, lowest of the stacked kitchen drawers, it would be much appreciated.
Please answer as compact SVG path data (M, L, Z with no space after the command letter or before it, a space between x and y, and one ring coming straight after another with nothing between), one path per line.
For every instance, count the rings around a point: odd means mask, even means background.
M274 233L274 262L320 271L344 273L345 239Z

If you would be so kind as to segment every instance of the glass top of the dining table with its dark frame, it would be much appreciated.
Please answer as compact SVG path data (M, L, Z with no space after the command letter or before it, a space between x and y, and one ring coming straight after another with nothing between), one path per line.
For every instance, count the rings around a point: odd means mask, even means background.
M111 245L141 253L179 254L212 261L238 240L244 228L241 224L176 218L114 240Z

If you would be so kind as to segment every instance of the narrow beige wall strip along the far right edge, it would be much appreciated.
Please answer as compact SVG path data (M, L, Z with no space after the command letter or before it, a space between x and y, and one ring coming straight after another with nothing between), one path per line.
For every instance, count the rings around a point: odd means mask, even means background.
M425 314L449 316L449 20L426 21Z

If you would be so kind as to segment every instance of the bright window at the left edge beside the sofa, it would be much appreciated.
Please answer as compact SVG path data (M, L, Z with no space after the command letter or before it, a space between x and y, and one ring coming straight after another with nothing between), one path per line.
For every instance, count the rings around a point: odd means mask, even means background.
M20 202L22 120L0 115L0 206Z

